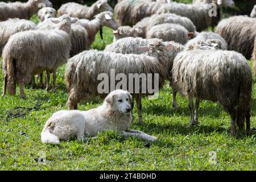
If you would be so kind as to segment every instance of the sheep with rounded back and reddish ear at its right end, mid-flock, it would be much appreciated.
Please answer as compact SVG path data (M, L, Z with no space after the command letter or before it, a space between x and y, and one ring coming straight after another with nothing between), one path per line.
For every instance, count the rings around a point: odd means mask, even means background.
M179 24L164 23L158 24L147 31L146 38L158 38L164 41L175 41L180 44L185 44L189 40L187 29Z

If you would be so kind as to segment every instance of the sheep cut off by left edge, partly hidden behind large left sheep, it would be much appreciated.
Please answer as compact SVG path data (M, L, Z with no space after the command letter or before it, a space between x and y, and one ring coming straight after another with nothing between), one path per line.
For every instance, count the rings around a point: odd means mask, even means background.
M36 28L35 23L25 19L15 18L0 22L0 54L11 35L26 30L36 30Z

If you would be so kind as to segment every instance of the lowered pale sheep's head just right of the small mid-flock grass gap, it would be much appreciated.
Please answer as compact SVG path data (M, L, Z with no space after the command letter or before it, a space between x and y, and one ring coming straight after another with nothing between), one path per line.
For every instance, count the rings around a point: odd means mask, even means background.
M117 30L113 31L115 40L126 38L126 37L137 37L142 34L143 30L137 27L121 26Z

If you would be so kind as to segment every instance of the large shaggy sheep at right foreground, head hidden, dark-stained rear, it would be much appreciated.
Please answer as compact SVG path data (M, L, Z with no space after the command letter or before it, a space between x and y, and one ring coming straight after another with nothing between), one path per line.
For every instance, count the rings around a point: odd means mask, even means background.
M236 123L250 134L251 71L245 57L234 51L192 46L174 59L172 81L181 95L189 98L191 122L198 123L200 100L219 102L231 116L231 134ZM193 98L196 99L195 113Z

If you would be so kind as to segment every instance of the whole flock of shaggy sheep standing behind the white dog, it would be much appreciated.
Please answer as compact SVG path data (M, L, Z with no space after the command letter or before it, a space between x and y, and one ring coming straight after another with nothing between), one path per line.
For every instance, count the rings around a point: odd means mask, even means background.
M26 20L42 3L47 7L38 11L40 23ZM209 16L210 3L216 5L217 16ZM252 76L246 59L253 56L256 60L256 19L232 16L219 22L221 7L234 7L234 2L123 0L114 8L114 19L106 0L96 1L90 7L70 2L57 11L48 0L0 2L3 96L6 90L14 95L19 84L20 97L24 97L23 85L30 81L35 84L34 75L40 75L43 86L44 71L46 89L50 89L50 73L54 89L57 68L67 63L67 105L77 109L81 100L106 96L97 92L100 73L110 75L111 69L125 75L158 73L159 89L166 80L170 81L175 109L179 108L177 92L188 97L189 126L198 123L200 100L209 100L219 102L230 114L232 135L236 126L243 129L245 121L246 134L250 134ZM251 16L255 12L256 7ZM102 38L104 26L113 28L114 43L104 51L88 50L98 31ZM216 33L201 32L210 26L217 26ZM149 94L132 94L139 122L141 98Z

